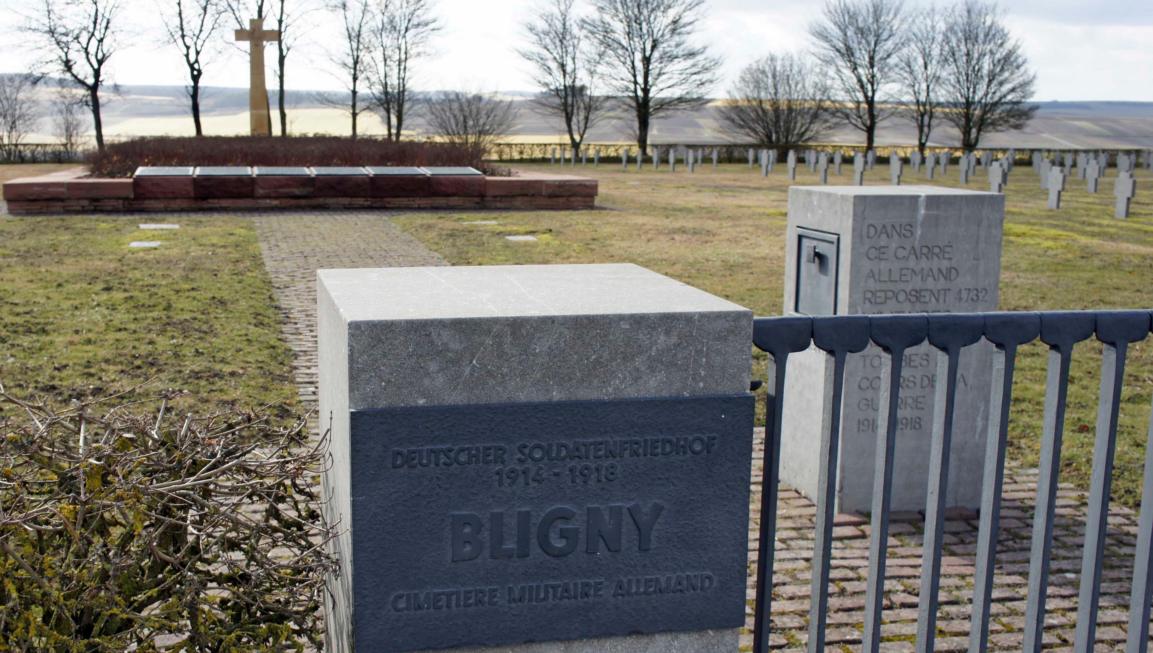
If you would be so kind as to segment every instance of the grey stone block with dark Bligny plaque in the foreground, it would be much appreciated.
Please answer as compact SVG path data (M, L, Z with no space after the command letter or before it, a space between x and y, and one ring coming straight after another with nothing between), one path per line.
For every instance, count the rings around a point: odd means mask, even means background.
M326 651L737 651L751 311L635 265L317 276Z

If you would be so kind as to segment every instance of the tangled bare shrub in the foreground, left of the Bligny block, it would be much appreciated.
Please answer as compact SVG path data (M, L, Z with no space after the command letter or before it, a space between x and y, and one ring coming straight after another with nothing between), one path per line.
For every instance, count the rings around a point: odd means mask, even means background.
M5 650L321 645L325 439L304 416L169 415L179 394L140 415L123 395L59 410L0 387L22 417L0 424Z

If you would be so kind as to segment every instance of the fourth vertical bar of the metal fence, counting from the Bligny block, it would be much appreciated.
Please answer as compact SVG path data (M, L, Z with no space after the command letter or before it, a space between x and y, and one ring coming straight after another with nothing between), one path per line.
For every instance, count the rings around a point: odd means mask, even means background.
M928 317L928 322L929 343L937 350L937 366L921 586L917 602L917 653L933 653L936 645L941 540L944 537L945 493L949 488L949 449L952 445L952 413L957 398L957 366L960 363L960 350L981 339L985 318L980 314L936 313Z

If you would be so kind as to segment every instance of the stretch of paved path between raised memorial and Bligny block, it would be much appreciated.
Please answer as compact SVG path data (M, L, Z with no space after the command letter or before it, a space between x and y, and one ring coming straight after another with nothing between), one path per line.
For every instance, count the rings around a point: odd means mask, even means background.
M383 211L250 214L280 305L304 409L316 405L316 271L449 265Z

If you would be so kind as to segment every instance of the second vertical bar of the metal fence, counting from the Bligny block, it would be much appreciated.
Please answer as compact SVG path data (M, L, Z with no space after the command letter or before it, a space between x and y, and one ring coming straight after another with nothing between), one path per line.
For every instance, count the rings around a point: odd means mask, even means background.
M821 471L817 481L813 534L813 584L808 613L808 653L824 652L824 627L829 609L829 563L832 554L832 518L836 507L837 453L841 445L841 398L845 385L845 357L862 351L869 342L868 316L813 319L813 343L824 351L824 396L821 416Z

